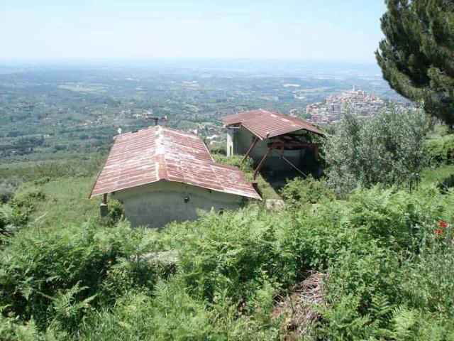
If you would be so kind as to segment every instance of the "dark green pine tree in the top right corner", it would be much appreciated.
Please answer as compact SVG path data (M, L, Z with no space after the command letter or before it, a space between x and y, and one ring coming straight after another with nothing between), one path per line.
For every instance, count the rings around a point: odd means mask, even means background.
M454 124L454 2L387 0L375 53L389 85Z

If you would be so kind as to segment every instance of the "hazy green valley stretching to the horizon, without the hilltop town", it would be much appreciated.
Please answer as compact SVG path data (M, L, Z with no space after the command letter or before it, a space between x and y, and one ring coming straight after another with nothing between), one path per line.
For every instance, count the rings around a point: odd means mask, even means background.
M306 106L356 85L401 101L375 65L183 63L11 65L0 71L2 163L106 151L112 136L168 117L169 126L223 139L219 118L267 108L309 119Z

